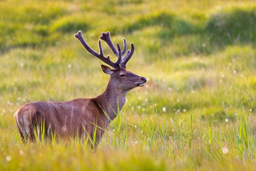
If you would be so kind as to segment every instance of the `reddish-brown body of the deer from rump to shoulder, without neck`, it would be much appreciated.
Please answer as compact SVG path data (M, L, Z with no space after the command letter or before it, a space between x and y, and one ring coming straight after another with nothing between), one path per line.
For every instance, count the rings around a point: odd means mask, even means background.
M34 141L35 133L58 137L74 137L91 132L89 125L94 121L93 115L87 115L88 106L93 105L89 99L75 99L67 102L32 102L23 105L15 113L18 130L23 139Z

